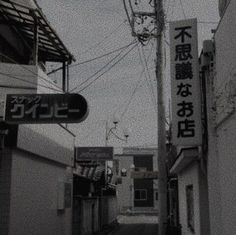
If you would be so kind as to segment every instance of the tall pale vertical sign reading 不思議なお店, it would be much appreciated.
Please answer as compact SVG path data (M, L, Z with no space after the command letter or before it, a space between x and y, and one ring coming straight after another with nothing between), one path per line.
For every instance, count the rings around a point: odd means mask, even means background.
M170 23L170 69L173 144L199 146L202 132L197 19Z

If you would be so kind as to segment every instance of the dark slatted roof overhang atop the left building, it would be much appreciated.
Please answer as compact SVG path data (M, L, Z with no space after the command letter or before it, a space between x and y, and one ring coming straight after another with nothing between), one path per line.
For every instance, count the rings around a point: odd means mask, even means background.
M71 62L75 60L34 0L1 0L0 23L17 30L29 49L34 42L34 26L38 25L39 59L42 61Z

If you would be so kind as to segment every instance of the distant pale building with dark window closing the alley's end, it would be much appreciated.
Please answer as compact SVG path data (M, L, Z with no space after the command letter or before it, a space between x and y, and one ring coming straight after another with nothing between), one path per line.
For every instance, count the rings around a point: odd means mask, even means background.
M115 155L114 159L119 162L121 178L121 184L117 185L119 212L157 212L156 149L124 148L123 154Z

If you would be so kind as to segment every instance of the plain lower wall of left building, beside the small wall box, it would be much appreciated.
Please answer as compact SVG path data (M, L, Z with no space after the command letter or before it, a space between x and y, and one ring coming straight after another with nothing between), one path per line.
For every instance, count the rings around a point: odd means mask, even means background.
M13 151L9 235L70 234L71 208L57 209L58 182L66 166Z

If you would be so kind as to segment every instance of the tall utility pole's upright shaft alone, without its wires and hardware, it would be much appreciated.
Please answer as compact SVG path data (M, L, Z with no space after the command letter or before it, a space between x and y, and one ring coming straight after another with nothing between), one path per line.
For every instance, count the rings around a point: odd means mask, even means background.
M163 101L163 31L164 10L163 0L154 0L157 51L156 51L156 79L157 79L157 126L158 126L158 192L159 192L159 234L165 235L167 228L167 172L166 172L166 130L165 107Z

